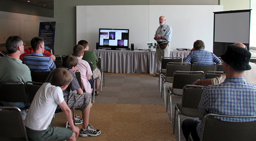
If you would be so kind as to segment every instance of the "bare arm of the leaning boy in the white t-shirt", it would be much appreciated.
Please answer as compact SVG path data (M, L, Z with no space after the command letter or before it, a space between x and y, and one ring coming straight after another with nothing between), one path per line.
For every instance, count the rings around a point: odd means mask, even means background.
M68 107L67 103L65 101L61 102L58 104L59 107L62 109L65 117L66 117L66 120L68 121L70 127L71 127L71 130L73 132L76 133L76 137L78 137L79 135L79 128L78 127L75 127L74 123L73 123L73 120L72 120L72 112L70 110L70 108Z

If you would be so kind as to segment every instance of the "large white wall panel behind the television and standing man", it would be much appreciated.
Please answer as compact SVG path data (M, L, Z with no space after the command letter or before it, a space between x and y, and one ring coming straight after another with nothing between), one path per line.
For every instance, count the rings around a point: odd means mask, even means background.
M171 46L193 48L197 39L203 40L212 52L214 11L223 6L143 5L143 6L77 6L77 42L85 39L95 49L99 28L130 29L130 41L135 48L146 49L146 42L155 41L159 16L173 28Z

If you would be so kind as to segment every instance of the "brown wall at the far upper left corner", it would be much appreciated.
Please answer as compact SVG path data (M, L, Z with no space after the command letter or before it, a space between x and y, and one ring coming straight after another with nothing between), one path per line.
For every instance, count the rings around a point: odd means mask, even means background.
M39 22L53 21L54 18L0 11L0 44L9 36L20 36L24 42L38 36Z

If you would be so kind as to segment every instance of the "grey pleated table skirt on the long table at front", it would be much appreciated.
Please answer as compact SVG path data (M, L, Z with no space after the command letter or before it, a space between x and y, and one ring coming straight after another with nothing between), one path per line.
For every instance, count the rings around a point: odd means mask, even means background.
M109 73L144 73L156 72L156 51L148 50L93 50L101 57L101 68ZM186 57L190 51L170 51L170 57Z

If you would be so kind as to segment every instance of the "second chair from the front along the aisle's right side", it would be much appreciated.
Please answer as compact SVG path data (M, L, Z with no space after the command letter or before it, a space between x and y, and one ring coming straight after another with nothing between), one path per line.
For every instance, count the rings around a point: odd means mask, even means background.
M174 79L174 72L176 72L177 70L179 71L189 71L191 67L190 63L177 63L177 62L168 62L166 64L166 76L163 76L163 81L162 81L162 88L164 87L163 90L161 90L161 97L163 96L163 91L164 91L164 105L166 105L165 103L165 83L169 82L169 83L173 83L173 79Z

